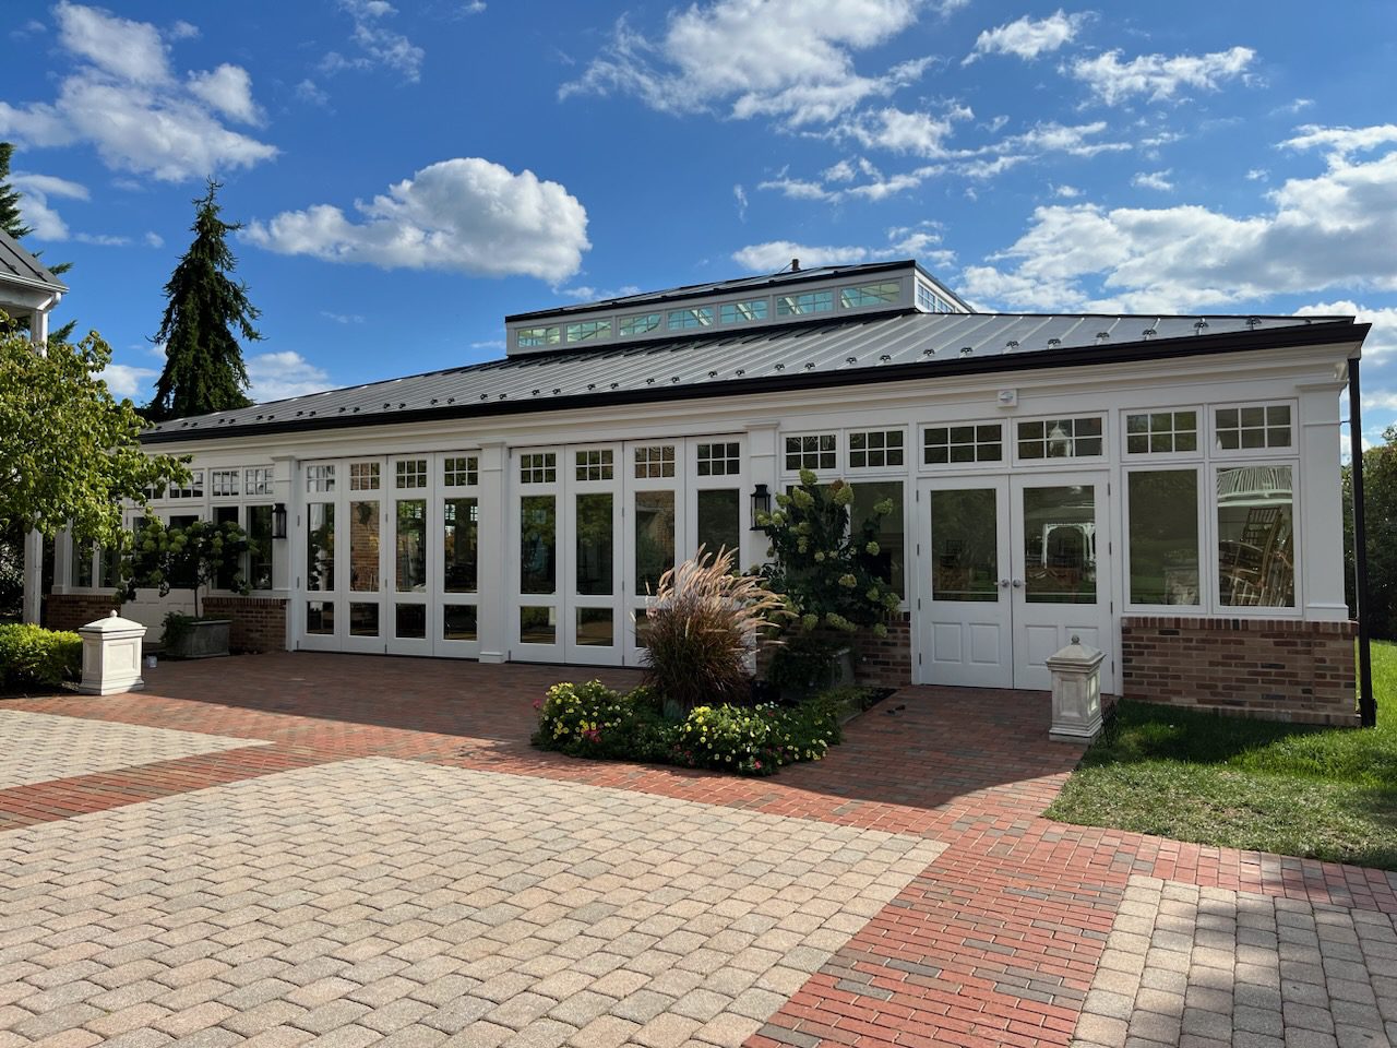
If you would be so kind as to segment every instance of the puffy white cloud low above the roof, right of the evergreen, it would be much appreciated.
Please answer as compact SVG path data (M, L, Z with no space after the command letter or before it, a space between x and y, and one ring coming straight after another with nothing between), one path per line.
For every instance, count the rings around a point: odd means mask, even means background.
M581 267L587 210L556 182L478 157L441 161L355 201L362 221L332 204L251 222L242 236L281 254L380 268L479 277L567 279Z

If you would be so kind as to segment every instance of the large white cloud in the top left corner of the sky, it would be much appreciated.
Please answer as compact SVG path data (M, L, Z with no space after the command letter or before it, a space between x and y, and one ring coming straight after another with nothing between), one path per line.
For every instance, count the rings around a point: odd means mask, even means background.
M277 155L275 147L222 123L224 116L256 112L237 66L182 81L149 22L73 3L59 4L56 14L60 45L75 68L52 102L0 102L0 136L41 148L89 144L108 168L163 182L250 168Z

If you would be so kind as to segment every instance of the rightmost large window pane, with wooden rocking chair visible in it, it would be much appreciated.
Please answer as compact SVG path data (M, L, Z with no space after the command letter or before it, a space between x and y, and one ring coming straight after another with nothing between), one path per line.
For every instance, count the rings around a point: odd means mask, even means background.
M1295 504L1288 465L1218 470L1218 598L1295 606Z

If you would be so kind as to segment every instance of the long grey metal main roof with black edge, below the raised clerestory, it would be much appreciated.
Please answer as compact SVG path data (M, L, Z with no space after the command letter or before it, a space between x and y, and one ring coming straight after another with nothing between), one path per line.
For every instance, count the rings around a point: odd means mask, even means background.
M151 443L1358 340L1354 317L897 312L513 356L162 422Z

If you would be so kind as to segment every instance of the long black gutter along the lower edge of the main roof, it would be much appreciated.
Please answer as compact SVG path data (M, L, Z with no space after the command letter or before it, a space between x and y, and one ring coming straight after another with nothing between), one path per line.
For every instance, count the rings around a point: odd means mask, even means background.
M616 390L550 397L546 401L495 400L475 404L443 405L394 414L326 415L312 419L286 419L249 426L219 428L212 422L207 429L182 426L179 429L144 433L141 443L163 444L183 440L214 440L218 437L258 436L263 433L305 433L321 429L358 429L362 426L395 426L440 419L495 418L500 415L532 415L548 411L587 411L590 408L657 404L715 397L747 397L763 393L791 393L799 390L845 388L890 381L956 377L964 374L1017 373L1080 367L1104 363L1136 363L1141 361L1169 361L1186 356L1215 356L1257 349L1289 349L1327 342L1362 342L1370 324L1334 320L1320 324L1298 324L1259 331L1228 331L1217 335L1185 335L1150 341L1123 342L1109 349L1099 345L1069 347L1063 349L1034 349L1023 354L993 356L958 356L930 363L908 363L894 367L856 367L845 372L800 372L754 379L732 379L721 383L666 386L662 388ZM531 359L531 358L515 358ZM244 408L246 411L246 408ZM177 419L175 421L177 422ZM168 422L165 425L173 425Z

